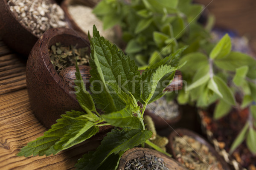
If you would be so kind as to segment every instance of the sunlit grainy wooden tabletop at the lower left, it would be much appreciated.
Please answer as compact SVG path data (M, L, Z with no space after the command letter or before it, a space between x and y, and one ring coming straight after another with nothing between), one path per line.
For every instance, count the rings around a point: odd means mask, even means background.
M3 43L0 41L0 47ZM82 143L55 156L18 157L28 142L46 128L35 118L26 90L26 65L16 54L0 48L0 170L71 170L77 159L100 142Z

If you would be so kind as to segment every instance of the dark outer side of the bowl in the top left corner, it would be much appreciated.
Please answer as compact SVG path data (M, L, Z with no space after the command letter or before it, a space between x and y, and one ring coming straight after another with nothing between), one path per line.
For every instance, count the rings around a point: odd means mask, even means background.
M0 0L0 36L6 45L25 57L39 38L20 24L6 0Z

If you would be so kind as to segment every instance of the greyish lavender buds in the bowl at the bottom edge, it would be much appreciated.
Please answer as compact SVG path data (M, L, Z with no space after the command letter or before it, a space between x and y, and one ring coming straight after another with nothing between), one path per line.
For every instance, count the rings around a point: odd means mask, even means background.
M144 157L128 161L125 170L169 170L162 158L145 154Z

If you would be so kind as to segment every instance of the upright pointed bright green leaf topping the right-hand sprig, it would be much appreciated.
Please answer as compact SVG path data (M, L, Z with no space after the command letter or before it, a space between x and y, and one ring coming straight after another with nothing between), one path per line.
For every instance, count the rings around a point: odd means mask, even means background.
M210 58L212 59L221 59L227 54L230 53L232 47L232 43L228 34L224 35L217 45L212 49L210 53Z

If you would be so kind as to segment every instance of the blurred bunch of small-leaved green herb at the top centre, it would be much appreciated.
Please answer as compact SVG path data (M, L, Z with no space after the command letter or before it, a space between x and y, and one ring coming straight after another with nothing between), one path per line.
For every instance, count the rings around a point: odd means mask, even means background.
M202 10L191 0L102 0L93 12L104 28L121 26L125 52L145 69L184 45L183 54L208 44L212 24L197 22Z

